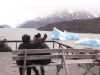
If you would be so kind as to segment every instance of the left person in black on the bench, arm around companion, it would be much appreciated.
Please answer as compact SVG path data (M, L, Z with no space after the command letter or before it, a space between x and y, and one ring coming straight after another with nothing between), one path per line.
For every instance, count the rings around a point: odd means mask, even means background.
M38 48L39 46L41 46L41 44L45 41L45 39L47 38L47 35L44 35L44 37L40 40L37 40L36 42L34 43L30 43L30 36L29 35L23 35L22 36L22 41L23 43L21 43L18 47L18 49L36 49ZM21 56L21 55L19 55ZM33 61L32 60L27 60L26 61L26 65L32 65ZM20 60L20 61L17 61L17 64L22 66L24 64L24 61ZM32 69L34 70L35 72L35 75L39 75L39 71L36 69L36 67L32 67ZM22 71L23 71L23 68L22 67L19 67L19 71L20 71L20 75L22 75ZM31 67L27 67L27 75L31 75Z

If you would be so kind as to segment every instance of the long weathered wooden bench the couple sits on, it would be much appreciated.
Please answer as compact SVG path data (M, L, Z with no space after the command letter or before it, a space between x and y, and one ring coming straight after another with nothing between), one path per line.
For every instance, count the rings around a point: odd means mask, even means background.
M79 54L80 52L84 54ZM51 53L51 55L31 55L36 53ZM70 54L74 53L74 54ZM93 64L91 67L98 64L96 59L100 58L100 50L88 50L88 49L24 49L13 51L13 60L24 60L23 75L27 67L37 66L35 64L31 66L26 66L26 60L40 60L40 59L54 59L61 60L59 62L50 63L46 66L56 66L57 72L55 75L59 75L60 70L63 68L66 75L69 75L68 64ZM24 56L18 56L18 54L23 54ZM40 66L40 65L38 65ZM20 66L21 67L21 66ZM90 72L90 69L86 69L86 72ZM85 75L85 74L84 74Z

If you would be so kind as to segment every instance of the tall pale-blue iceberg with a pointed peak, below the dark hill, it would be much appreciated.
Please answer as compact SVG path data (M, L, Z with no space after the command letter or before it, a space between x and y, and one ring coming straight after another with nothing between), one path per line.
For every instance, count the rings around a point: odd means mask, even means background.
M66 32L66 31L62 32L56 27L54 27L52 31L51 39L52 40L79 40L80 37L74 33Z

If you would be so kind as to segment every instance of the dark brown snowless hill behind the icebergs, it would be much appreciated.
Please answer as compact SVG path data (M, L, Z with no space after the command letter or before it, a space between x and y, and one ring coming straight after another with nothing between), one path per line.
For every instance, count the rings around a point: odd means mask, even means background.
M100 18L56 22L40 27L38 30L52 31L53 27L68 32L100 33Z

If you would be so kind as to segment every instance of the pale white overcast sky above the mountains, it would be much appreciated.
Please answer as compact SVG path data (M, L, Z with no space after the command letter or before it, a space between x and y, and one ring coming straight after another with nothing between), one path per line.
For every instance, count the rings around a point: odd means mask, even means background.
M100 0L0 0L0 24L15 27L64 9L99 13Z

